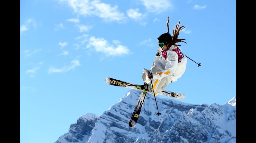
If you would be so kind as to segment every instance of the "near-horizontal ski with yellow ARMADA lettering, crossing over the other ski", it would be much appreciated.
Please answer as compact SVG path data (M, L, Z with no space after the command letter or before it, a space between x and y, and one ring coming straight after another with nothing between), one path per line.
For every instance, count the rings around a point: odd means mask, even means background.
M137 84L120 81L120 80L113 79L113 78L110 78L110 77L106 77L106 83L109 84L109 85L120 86L120 87L125 87L125 88L144 91L142 89L136 88ZM153 93L151 93L151 94L153 95ZM175 98L175 99L180 99L180 100L183 100L183 99L186 98L185 94L172 92L172 91L161 91L161 92L157 92L157 94L172 97L172 98Z

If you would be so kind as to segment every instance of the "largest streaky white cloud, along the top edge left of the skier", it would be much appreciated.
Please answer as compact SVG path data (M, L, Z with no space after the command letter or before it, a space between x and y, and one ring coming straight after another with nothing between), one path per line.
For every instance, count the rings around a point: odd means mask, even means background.
M117 5L111 6L110 4L100 2L100 0L60 0L60 2L69 4L74 12L79 15L94 15L109 22L123 22L126 19L124 13L118 10Z

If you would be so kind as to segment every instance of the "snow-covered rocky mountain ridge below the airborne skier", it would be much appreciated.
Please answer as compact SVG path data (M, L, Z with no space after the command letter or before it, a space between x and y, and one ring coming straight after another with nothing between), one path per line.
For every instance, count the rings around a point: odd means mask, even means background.
M193 105L147 94L137 125L128 126L141 91L130 90L102 115L86 114L55 143L234 143L236 97L225 105Z

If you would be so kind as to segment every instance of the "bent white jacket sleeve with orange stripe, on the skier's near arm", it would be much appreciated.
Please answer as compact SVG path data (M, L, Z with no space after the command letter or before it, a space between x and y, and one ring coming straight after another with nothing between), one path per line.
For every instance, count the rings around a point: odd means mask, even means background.
M166 58L165 70L162 70L157 72L156 74L153 74L153 78L161 80L162 78L168 75L173 75L175 69L177 68L177 65L178 65L178 55L176 52L170 50Z

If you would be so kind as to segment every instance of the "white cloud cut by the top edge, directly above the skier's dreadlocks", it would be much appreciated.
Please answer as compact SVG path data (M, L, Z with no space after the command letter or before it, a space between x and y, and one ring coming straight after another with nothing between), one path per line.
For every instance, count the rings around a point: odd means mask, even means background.
M161 13L171 10L173 5L168 0L141 0L148 12Z

